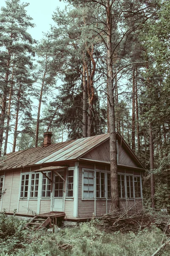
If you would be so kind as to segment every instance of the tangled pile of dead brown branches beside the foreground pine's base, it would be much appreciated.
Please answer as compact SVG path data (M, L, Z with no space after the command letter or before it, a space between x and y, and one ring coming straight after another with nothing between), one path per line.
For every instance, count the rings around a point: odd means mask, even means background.
M103 225L106 229L112 230L114 232L138 232L154 222L150 215L144 212L118 212L113 211L102 216Z

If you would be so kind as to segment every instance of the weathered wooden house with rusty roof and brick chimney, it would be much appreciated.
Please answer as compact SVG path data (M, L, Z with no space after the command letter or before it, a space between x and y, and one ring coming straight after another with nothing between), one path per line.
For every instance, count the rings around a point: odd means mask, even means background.
M66 220L101 216L111 206L109 134L7 154L0 169L0 211L32 216L63 212ZM144 166L119 133L117 162L121 207L142 208Z

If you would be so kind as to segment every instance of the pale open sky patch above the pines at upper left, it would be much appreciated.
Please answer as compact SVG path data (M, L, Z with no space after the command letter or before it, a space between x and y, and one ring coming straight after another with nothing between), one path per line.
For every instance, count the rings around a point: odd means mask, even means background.
M32 22L36 25L28 30L33 39L40 40L42 32L48 32L50 24L54 24L52 14L57 7L64 9L65 3L59 0L20 0L21 3L29 3L26 8L27 14L30 15ZM6 6L5 0L0 0L0 8Z

